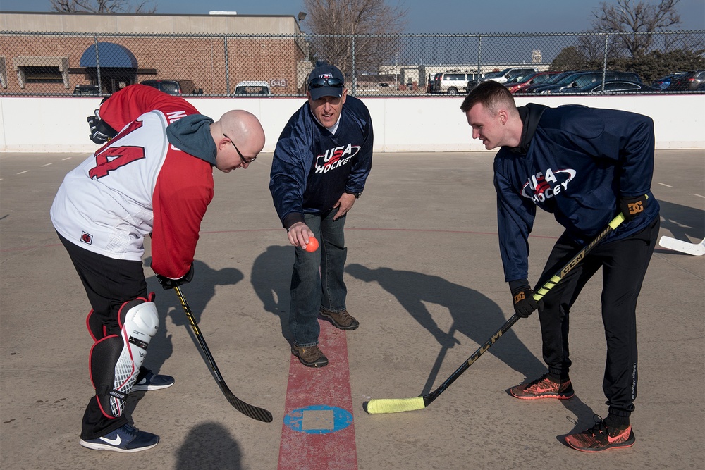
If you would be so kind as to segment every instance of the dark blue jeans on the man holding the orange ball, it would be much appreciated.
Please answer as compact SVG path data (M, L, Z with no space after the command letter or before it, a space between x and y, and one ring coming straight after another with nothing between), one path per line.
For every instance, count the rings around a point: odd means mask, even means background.
M296 247L294 271L291 275L291 304L289 330L296 345L309 347L318 344L321 327L318 312L345 310L348 289L343 282L345 260L345 216L333 221L336 210L328 214L304 214L306 225L312 230L321 247L313 253Z

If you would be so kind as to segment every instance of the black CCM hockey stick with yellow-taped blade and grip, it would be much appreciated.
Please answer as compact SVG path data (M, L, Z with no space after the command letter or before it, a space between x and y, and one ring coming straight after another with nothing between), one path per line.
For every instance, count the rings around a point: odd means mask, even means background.
M534 293L534 300L537 302L544 297L548 293L549 290L553 289L553 287L556 286L556 284L560 283L563 278L565 278L565 275L568 274L568 271L572 270L572 268L575 268L580 261L585 257L585 255L595 247L601 240L603 240L604 237L607 236L608 233L611 233L615 228L617 228L621 223L624 222L624 215L619 214L615 218L612 219L612 221L607 225L604 230L602 230L599 235L597 235L594 240L589 242L587 245L585 245L580 252L578 252L575 256L568 261L568 263L563 266L563 268L558 271L551 279L547 280L546 283L537 290L537 292ZM477 361L477 358L482 356L482 354L486 351L489 350L489 347L491 345L494 345L494 343L501 338L501 336L504 333L507 333L509 328L512 328L514 323L517 323L517 321L521 317L518 316L517 314L514 314L510 319L508 319L501 328L497 330L494 335L492 335L492 338L489 338L484 345L480 346L477 351L472 353L472 356L470 356L467 361L462 363L462 366L458 367L458 369L455 370L455 372L450 374L450 377L446 378L446 381L441 383L436 390L428 393L427 395L422 395L420 397L414 397L414 398L380 398L380 399L372 399L367 402L367 406L364 407L365 411L368 412L369 414L382 414L382 413L398 413L398 412L410 412L415 409L424 409L431 404L436 398L443 393L443 391L446 390L450 386L451 383L455 382L455 379L460 377L460 375L467 371L467 369L472 366L474 361Z

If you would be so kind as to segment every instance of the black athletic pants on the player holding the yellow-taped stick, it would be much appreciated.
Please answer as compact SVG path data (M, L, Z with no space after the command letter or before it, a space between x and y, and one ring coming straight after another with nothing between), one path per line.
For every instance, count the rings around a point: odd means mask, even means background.
M602 321L607 362L602 388L609 413L628 418L637 397L637 297L658 238L659 217L630 237L594 247L543 299L539 310L544 361L548 372L568 378L570 307L587 281L602 268ZM581 249L563 233L548 256L537 285L544 285Z

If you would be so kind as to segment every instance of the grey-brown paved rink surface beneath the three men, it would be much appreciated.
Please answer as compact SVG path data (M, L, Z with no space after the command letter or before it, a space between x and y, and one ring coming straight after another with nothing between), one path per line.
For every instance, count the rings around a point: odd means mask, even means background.
M518 322L427 409L370 415L372 398L427 393L509 318L498 252L493 153L376 154L348 216L345 332L355 460L331 470L539 468L689 469L705 457L705 256L657 248L639 299L639 396L633 447L571 450L562 437L606 414L600 276L572 311L571 400L516 400L506 391L544 372L537 316ZM0 154L0 466L3 469L286 469L278 459L290 361L286 323L293 248L267 184L271 154L247 170L216 171L195 278L183 286L223 378L269 409L273 423L237 412L200 354L173 292L157 292L161 326L145 365L176 378L139 392L128 410L157 433L137 454L78 445L92 387L90 307L49 220L63 176L85 155ZM652 186L661 235L705 237L705 151L658 151ZM530 239L536 280L560 227L541 212ZM339 330L335 330L339 332ZM337 356L336 356L337 357ZM291 369L290 369L291 362ZM326 369L317 371L325 377ZM317 394L329 395L325 381ZM323 389L323 390L321 390ZM334 433L330 434L331 436ZM326 440L300 452L319 468ZM283 466L285 465L285 466Z

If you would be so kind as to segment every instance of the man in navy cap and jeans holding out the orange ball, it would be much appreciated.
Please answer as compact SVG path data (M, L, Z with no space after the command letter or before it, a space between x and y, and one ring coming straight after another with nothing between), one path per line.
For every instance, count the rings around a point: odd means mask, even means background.
M314 68L307 102L289 119L274 150L274 208L295 248L291 276L291 352L309 367L324 367L318 315L342 330L358 323L348 314L343 269L345 219L364 190L372 166L372 120L367 107L348 97L336 66ZM311 237L320 249L305 251Z

